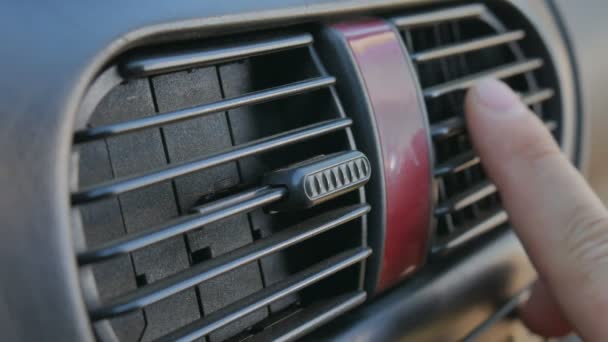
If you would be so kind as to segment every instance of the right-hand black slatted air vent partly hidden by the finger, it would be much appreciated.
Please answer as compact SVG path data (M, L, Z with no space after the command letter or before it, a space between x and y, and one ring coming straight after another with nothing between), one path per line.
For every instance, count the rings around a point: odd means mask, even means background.
M519 24L517 15L509 12L509 23ZM556 136L560 131L558 89L546 76L552 69L539 48L542 42L527 26L505 27L499 16L485 5L473 4L392 20L418 73L428 112L438 190L435 253L452 250L508 221L463 122L464 95L475 81L506 81Z

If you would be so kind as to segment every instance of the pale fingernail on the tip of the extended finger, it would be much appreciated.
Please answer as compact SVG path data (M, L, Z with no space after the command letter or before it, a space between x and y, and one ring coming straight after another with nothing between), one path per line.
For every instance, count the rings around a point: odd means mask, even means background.
M523 103L511 88L494 78L485 78L473 86L475 97L481 105L491 109L489 114L518 114Z

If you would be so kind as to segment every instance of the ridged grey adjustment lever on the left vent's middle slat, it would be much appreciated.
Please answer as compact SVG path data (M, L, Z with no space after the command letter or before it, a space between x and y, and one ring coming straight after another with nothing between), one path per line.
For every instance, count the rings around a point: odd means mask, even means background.
M365 185L371 175L367 157L359 151L320 155L264 176L264 184L287 188L273 211L306 209Z

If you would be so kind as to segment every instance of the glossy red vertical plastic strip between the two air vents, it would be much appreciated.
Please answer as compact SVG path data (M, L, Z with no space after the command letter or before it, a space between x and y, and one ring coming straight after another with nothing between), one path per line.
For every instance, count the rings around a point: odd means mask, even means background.
M424 262L432 178L425 113L397 33L382 20L334 26L365 83L380 137L386 187L386 240L377 292ZM374 227L370 227L374 229Z

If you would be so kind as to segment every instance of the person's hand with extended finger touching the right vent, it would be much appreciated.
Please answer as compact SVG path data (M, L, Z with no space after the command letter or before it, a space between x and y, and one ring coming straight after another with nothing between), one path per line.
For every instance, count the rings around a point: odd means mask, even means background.
M465 112L539 280L521 313L544 336L608 341L608 211L543 123L504 83L478 82Z

